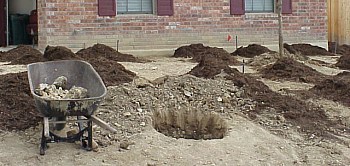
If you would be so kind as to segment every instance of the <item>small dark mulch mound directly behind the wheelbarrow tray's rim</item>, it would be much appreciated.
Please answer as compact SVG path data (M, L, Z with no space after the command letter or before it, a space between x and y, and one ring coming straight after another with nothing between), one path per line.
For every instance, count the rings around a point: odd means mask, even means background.
M44 58L48 61L80 59L70 49L63 46L47 46Z

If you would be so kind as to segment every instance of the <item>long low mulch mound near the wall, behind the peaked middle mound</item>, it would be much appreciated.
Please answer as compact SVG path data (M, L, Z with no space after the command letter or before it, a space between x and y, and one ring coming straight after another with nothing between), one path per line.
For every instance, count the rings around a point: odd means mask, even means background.
M223 63L235 65L239 62L235 57L222 48L204 46L203 44L191 44L188 46L181 46L175 50L173 55L175 58L192 58L195 62L202 61L203 58L213 57L222 60Z

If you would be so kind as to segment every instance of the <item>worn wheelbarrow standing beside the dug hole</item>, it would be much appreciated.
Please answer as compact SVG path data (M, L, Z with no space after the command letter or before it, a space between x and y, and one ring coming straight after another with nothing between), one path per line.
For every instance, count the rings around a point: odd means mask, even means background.
M41 155L45 154L47 143L51 142L81 141L84 148L92 150L92 122L104 129L116 132L106 122L93 115L106 95L107 89L101 77L89 63L80 60L61 60L32 63L27 68L30 91L34 97L37 111L43 117ZM39 84L52 84L60 76L67 78L67 88L79 86L87 89L87 98L48 99L35 93ZM76 119L67 120L67 117ZM62 137L51 131L52 128L55 130L63 129L68 122L78 123L79 132L77 134ZM50 124L53 126L50 127Z

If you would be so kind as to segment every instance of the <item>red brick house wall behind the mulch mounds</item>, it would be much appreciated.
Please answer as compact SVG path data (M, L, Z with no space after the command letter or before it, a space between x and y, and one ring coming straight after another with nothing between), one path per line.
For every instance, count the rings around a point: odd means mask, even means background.
M326 0L293 0L293 14L283 17L286 42L327 40ZM121 49L176 48L190 43L231 46L276 44L277 14L230 15L229 0L174 0L174 16L99 17L97 0L38 1L39 47L105 43Z

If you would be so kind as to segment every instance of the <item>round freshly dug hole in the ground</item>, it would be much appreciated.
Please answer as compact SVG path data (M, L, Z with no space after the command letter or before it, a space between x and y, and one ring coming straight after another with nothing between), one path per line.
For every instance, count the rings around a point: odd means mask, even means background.
M199 110L156 110L153 127L174 138L222 139L227 133L227 122L216 112Z

